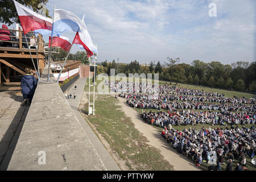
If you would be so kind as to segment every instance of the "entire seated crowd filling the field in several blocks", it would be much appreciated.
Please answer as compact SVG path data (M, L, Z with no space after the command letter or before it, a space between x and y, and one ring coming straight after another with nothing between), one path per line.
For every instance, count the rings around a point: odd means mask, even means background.
M113 85L117 84L118 81ZM241 171L247 169L246 158L254 157L255 98L228 98L224 94L167 85L159 85L158 95L142 93L139 89L139 92L133 89L127 93L121 86L118 86L121 89L116 89L113 85L112 89L119 92L119 97L126 98L127 104L142 109L144 122L163 127L162 137L178 152L193 160L196 166L205 162L210 164L209 170L221 170L226 162L226 170L232 170L236 159L235 170ZM201 130L191 128L205 123L209 127ZM251 124L250 129L245 124ZM179 125L191 127L182 131L173 128ZM239 129L238 125L243 127ZM227 161L224 161L224 156Z

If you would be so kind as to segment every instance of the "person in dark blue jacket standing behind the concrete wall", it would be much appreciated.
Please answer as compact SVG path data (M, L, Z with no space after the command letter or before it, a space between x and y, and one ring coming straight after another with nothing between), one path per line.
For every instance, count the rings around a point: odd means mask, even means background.
M22 94L24 98L22 102L22 106L26 104L30 105L35 93L36 86L38 85L36 78L33 75L31 75L32 69L26 68L25 72L27 73L27 75L24 75L20 82L20 85L22 88Z

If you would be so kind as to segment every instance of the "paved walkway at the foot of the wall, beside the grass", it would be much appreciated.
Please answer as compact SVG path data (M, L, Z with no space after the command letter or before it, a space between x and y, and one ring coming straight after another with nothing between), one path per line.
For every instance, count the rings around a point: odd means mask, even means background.
M92 142L106 169L109 171L119 171L120 168L118 167L117 163L115 163L114 159L109 154L108 150L106 150L104 145L101 143L100 139L98 139L97 135L88 125L88 123L85 121L84 117L82 117L79 111L79 105L82 98L82 94L84 94L84 86L86 84L86 80L87 78L79 78L67 91L64 92L64 94L72 94L72 98L68 99L69 105L73 109L73 112L75 113L77 119L79 119L79 122L84 128L90 142ZM76 89L75 85L77 86ZM74 99L73 97L74 93L76 93L76 99Z

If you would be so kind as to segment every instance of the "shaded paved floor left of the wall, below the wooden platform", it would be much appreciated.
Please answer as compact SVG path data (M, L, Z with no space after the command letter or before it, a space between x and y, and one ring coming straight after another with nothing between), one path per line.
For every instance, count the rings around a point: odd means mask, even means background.
M0 92L0 171L7 169L26 119L29 107L22 101L20 93Z

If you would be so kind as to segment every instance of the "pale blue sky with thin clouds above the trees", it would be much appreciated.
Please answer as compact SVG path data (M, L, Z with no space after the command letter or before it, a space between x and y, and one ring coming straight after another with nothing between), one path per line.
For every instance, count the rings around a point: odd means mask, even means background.
M217 17L208 15L210 3L216 4ZM49 0L50 15L54 5L80 18L85 14L100 62L118 57L124 63L163 64L167 56L188 64L256 60L255 0ZM72 42L75 33L64 36Z

